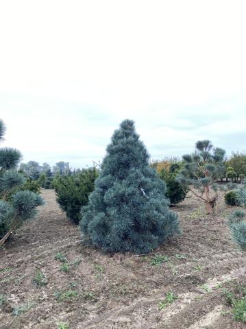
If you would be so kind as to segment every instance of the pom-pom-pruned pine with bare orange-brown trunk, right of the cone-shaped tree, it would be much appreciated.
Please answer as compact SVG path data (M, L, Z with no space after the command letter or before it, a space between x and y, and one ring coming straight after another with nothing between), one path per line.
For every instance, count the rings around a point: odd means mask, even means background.
M195 153L183 156L184 169L177 175L177 182L206 204L212 213L218 199L217 181L224 175L225 150L214 148L210 141L198 141Z

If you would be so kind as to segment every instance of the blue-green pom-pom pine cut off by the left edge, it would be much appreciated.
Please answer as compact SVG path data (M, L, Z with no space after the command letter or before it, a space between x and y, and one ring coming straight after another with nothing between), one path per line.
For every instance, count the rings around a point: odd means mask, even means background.
M0 141L3 140L5 125L0 120ZM21 191L24 176L16 171L21 153L16 149L0 149L0 245L23 221L36 215L36 207L42 198L32 191Z

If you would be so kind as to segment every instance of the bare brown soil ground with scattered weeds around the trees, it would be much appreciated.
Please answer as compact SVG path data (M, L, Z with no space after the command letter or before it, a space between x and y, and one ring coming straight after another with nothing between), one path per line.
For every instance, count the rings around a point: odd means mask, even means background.
M226 226L186 198L173 210L183 234L149 255L82 245L53 190L0 250L0 328L232 329L225 298L245 280L245 254Z

